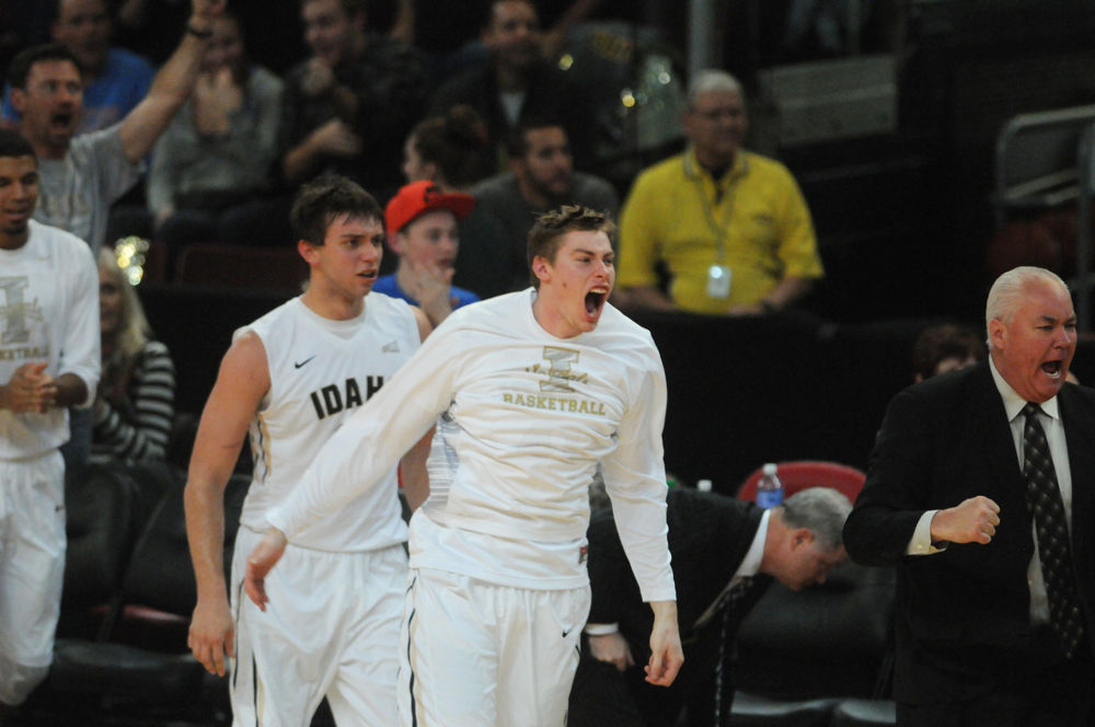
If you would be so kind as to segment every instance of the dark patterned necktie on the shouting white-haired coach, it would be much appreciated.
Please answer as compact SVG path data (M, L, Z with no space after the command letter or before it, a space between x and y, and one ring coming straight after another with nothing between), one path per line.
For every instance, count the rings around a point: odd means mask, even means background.
M1049 625L1061 639L1064 656L1072 658L1083 636L1084 627L1076 596L1072 556L1069 553L1069 528L1064 517L1057 471L1049 454L1046 432L1038 422L1041 407L1027 403L1023 407L1023 475L1027 482L1027 509L1038 534L1038 556L1049 597Z

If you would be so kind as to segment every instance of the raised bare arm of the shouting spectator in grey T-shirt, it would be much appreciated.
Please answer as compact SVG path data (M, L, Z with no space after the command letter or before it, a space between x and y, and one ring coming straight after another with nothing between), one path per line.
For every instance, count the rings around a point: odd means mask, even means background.
M224 0L192 0L187 32L183 33L175 53L152 79L148 95L122 120L122 148L130 162L138 162L152 151L175 113L182 107L194 81L201 58L209 45L212 20L224 10Z

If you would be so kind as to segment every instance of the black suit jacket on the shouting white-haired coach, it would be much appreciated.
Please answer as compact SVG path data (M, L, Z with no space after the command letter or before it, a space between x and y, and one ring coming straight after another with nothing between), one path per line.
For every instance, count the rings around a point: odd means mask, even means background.
M1076 585L1087 637L1095 639L1095 392L1065 384L1058 401L1072 472ZM988 545L952 543L943 553L904 555L925 510L976 495L1000 506L1000 527ZM988 362L910 386L890 402L866 484L844 526L844 544L858 563L898 566L894 695L899 702L966 701L1024 668L1034 536Z

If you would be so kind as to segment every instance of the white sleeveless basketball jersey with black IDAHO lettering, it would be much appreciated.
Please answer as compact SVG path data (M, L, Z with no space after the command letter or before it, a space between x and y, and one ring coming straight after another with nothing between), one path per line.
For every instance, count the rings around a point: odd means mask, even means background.
M266 348L270 389L251 424L255 469L240 522L262 532L267 510L288 496L323 443L418 348L418 325L410 305L374 292L350 321L325 319L295 298L235 335L246 331ZM405 542L397 486L393 468L385 482L291 542L339 552Z

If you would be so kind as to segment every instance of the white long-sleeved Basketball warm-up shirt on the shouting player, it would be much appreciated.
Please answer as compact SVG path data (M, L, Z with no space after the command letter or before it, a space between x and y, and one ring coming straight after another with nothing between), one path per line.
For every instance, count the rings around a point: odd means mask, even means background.
M588 486L602 464L645 600L676 598L666 542L666 382L649 333L611 305L595 331L545 332L535 291L456 311L351 416L268 521L295 533L376 486L445 414L451 481L431 480L411 565L523 588L588 582Z

